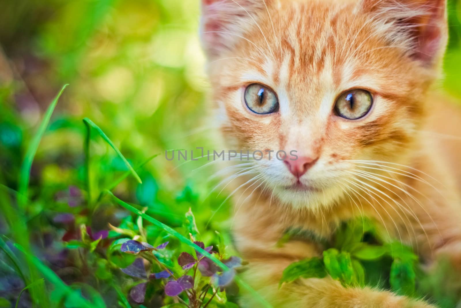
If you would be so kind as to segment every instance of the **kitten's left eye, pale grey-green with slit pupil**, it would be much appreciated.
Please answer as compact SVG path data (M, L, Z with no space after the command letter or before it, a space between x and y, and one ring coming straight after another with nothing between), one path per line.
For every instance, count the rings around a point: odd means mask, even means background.
M259 115L267 115L278 110L278 98L274 91L260 84L248 85L245 90L245 103Z

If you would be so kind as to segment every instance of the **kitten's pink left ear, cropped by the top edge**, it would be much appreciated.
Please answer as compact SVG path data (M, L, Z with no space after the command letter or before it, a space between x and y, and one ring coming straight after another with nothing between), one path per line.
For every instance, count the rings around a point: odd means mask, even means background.
M209 58L231 50L265 9L263 0L201 0L201 41ZM266 3L268 0L266 0ZM248 38L249 39L249 38Z

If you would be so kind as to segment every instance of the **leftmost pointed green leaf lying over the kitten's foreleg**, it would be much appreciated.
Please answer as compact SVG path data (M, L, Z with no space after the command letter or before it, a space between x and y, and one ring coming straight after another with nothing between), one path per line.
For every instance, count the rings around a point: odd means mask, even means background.
M283 283L290 283L298 278L324 278L326 276L325 266L318 257L308 258L299 262L291 263L284 269L279 286Z

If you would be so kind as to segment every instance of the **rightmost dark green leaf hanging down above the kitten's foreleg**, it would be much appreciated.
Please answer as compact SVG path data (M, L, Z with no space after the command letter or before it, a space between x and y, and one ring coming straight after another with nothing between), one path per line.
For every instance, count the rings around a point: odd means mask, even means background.
M395 259L390 267L390 286L400 295L411 296L415 289L414 261Z

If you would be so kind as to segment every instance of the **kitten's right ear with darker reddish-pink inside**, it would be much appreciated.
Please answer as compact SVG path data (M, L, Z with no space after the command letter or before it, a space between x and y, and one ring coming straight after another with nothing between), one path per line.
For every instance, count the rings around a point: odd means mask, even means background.
M438 64L445 51L447 0L363 0L365 9L390 25L393 42L411 48L411 56L426 66ZM410 49L408 49L410 50Z

